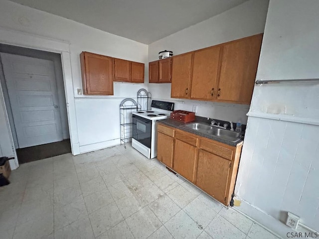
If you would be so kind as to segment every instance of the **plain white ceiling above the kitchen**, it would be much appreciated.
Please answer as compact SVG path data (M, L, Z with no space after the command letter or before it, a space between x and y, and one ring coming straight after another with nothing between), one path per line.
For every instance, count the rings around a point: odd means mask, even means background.
M11 0L150 44L247 0Z

